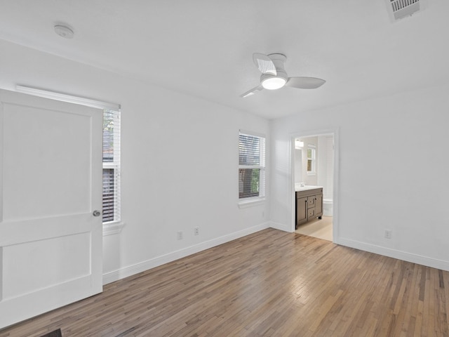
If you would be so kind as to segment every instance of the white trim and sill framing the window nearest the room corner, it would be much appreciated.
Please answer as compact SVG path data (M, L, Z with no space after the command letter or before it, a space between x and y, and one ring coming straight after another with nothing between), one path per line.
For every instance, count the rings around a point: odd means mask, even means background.
M241 165L239 163L239 170L240 169L260 169L260 182L259 182L259 195L257 197L246 197L241 198L238 197L238 205L240 209L250 207L250 206L257 206L259 204L264 204L266 200L266 188L267 188L267 138L262 133L255 133L252 131L243 131L239 130L239 142L240 142L240 136L251 136L251 137L257 137L259 139L263 139L263 144L260 146L260 159L262 163L259 165ZM239 148L239 155L240 155L240 148ZM262 174L263 173L263 174ZM261 195L262 194L262 195Z

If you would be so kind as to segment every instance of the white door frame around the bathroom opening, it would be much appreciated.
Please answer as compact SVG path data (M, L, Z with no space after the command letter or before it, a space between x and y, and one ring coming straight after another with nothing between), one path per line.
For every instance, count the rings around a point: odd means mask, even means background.
M333 171L333 243L338 244L339 223L340 223L340 129L328 129L328 130L309 130L309 131L297 131L290 133L290 198L292 202L292 221L291 231L295 232L295 138L308 138L316 136L333 136L334 140L334 171Z

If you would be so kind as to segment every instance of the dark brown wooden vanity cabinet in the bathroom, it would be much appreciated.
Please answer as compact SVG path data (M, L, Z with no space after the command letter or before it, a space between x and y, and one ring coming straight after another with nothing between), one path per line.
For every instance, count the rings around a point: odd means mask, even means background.
M296 191L296 226L323 216L323 188Z

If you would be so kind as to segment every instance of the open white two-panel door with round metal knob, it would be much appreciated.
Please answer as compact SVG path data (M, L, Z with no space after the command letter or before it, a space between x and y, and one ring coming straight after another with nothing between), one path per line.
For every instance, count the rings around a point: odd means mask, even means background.
M102 291L102 111L0 104L1 329Z

